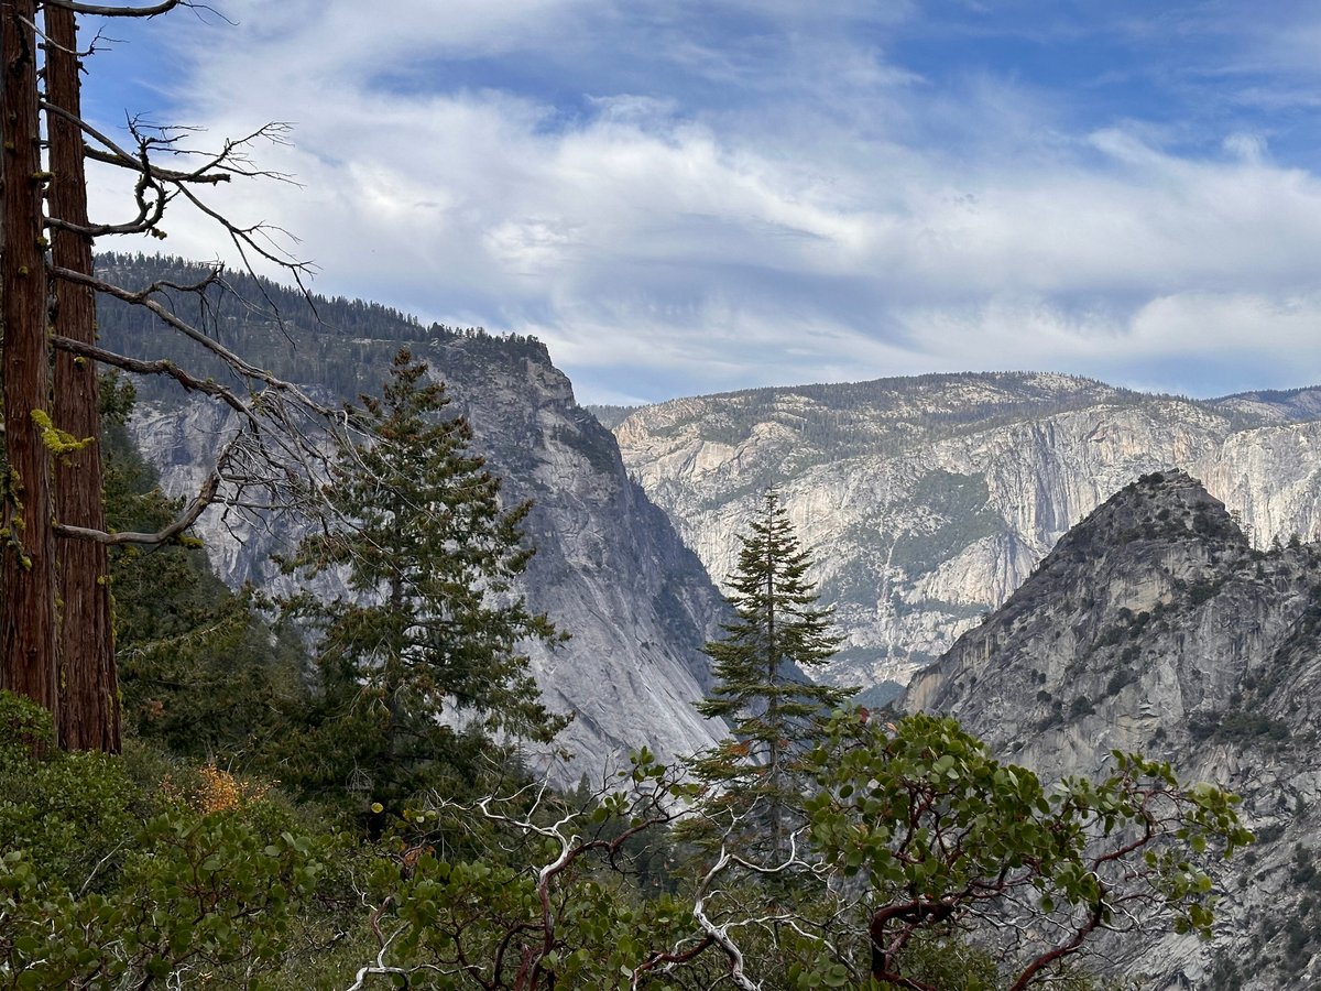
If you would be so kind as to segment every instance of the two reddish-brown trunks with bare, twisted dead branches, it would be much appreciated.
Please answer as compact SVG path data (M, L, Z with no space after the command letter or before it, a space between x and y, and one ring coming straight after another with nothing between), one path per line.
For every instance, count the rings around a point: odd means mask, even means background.
M162 218L180 201L219 223L244 262L272 262L303 285L306 264L273 246L264 225L231 222L203 196L236 174L269 174L252 165L248 151L256 141L279 141L284 126L268 124L206 153L181 147L180 129L136 116L128 122L132 140L123 144L82 118L82 74L95 46L79 42L78 18L156 17L192 5L192 0L0 3L0 62L5 66L0 173L7 177L0 182L0 420L5 427L0 431L5 464L0 473L0 688L46 708L55 740L66 749L114 753L120 748L107 548L168 544L207 505L244 502L246 488L283 477L292 449L313 453L306 447L313 431L297 424L325 423L333 414L292 383L221 346L209 328L192 326L172 312L172 295L203 293L221 281L221 267L192 287L153 283L140 289L94 272L94 237L164 237ZM181 157L193 156L199 157L177 168ZM133 174L136 218L111 226L89 222L86 159ZM153 361L155 355L144 359L137 348L141 338L123 354L100 346L96 293L131 303L202 345L243 387L219 381L227 375L194 375L185 366ZM95 443L100 435L98 367L148 375L168 371L186 388L223 400L244 422L217 445L217 460L197 497L161 531L116 531L107 523L106 480ZM254 429L258 424L262 428ZM235 470L236 462L242 470Z

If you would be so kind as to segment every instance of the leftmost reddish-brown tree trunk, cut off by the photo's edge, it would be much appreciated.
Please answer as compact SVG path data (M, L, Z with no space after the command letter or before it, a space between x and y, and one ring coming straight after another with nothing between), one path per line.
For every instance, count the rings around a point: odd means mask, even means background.
M33 416L50 398L36 21L37 0L0 1L0 383L8 457L0 521L0 688L45 706L59 725L50 453Z

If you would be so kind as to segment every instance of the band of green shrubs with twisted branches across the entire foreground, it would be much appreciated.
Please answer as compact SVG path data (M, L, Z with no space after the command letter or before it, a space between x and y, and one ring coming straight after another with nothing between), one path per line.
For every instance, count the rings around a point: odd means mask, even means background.
M646 751L579 793L419 795L373 843L219 768L63 754L0 694L0 988L1083 991L1098 942L1207 934L1251 840L1168 764L1046 786L950 719L840 711L803 764L779 860L676 839L712 786Z

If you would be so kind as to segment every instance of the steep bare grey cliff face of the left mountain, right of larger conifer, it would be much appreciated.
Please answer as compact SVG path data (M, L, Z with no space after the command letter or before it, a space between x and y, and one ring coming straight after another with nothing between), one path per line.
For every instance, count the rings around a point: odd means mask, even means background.
M534 501L528 603L573 636L536 651L534 670L547 704L575 714L571 770L598 773L643 744L662 757L709 747L725 728L694 702L711 683L701 646L719 634L719 593L544 348L514 362L490 350L453 340L425 357L510 498Z

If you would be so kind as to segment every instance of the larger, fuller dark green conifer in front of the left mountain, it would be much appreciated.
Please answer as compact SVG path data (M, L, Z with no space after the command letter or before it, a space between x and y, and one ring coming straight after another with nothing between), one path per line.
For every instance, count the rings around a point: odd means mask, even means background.
M468 776L491 732L548 741L568 721L540 704L522 649L567 640L513 591L532 555L520 543L531 503L501 507L472 428L439 415L449 399L425 375L402 350L382 398L362 396L369 440L341 451L324 492L338 517L284 562L306 577L336 571L350 592L288 603L321 634L320 739L341 758L324 784L359 768L386 802L437 773ZM446 714L476 725L456 732Z

